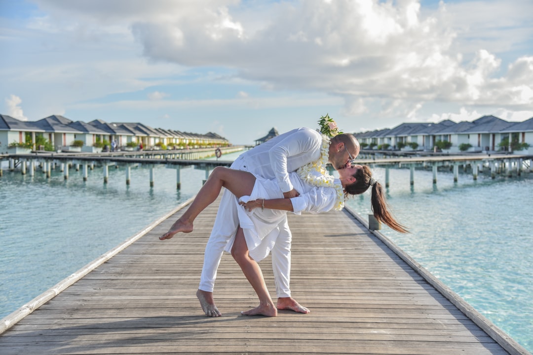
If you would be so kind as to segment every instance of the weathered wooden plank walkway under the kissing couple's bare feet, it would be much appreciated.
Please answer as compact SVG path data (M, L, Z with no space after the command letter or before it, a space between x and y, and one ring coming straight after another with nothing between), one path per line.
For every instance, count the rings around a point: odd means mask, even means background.
M512 340L504 350L348 212L289 217L291 288L310 314L241 316L257 298L225 254L223 316L205 317L195 292L216 207L169 241L157 237L181 211L156 225L7 329L0 354L527 354ZM260 265L272 292L270 257Z

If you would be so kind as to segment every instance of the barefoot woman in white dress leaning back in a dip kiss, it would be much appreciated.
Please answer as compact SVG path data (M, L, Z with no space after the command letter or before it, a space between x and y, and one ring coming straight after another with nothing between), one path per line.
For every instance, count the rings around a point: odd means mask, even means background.
M235 237L229 241L226 250L231 251L260 299L258 307L243 314L276 316L277 309L266 289L257 261L264 259L276 243L277 226L284 220L287 211L299 214L302 211L320 213L342 209L344 199L348 195L357 195L372 186L372 208L376 219L394 230L407 232L387 210L383 188L372 179L372 173L367 166L348 166L338 173L339 179L313 170L299 169L298 172L290 173L290 182L300 195L285 199L275 180L265 180L248 172L216 167L191 206L159 239L170 239L177 232L192 232L193 221L198 214L219 196L222 187L227 188L239 198L239 204L244 208L239 211L240 227ZM203 300L198 298L200 303L203 303ZM204 308L203 304L202 307Z

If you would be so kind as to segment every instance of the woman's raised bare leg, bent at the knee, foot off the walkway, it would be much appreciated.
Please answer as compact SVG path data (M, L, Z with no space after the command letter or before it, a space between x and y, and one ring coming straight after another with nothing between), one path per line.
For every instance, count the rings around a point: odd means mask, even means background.
M219 197L220 190L223 187L227 188L233 195L239 198L250 195L254 188L254 183L255 176L252 173L233 170L223 166L215 167L203 187L198 191L198 195L196 195L187 211L159 239L171 239L178 232L192 232L192 223L196 217Z

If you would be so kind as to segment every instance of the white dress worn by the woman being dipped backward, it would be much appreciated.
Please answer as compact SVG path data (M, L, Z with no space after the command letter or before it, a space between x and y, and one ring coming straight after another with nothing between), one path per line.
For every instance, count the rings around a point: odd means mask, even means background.
M290 182L300 196L290 199L295 214L301 212L327 212L335 206L337 191L330 187L316 187L305 183L295 172L289 174ZM338 182L338 181L336 181ZM241 201L256 199L283 198L277 181L257 177L250 196L243 196ZM248 212L243 206L238 206L239 225L244 231L249 255L255 261L261 261L269 255L279 235L279 226L287 218L287 212L279 209L254 208ZM233 236L225 251L231 252Z

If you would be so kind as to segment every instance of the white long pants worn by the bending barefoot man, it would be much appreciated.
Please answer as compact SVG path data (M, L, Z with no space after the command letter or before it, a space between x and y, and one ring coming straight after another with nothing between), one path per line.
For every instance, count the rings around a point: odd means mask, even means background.
M231 168L235 170L249 171L245 160L237 158ZM199 289L213 292L216 271L219 268L220 260L224 248L230 238L237 233L239 227L239 217L237 213L238 199L230 191L224 189L220 201L219 210L215 217L213 230L207 241L204 253L204 266L202 268ZM272 248L272 271L274 273L274 283L276 284L276 295L280 297L290 297L290 241L292 234L287 223L280 224L280 234L276 244Z

